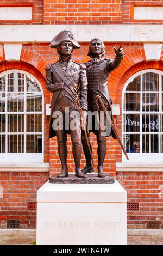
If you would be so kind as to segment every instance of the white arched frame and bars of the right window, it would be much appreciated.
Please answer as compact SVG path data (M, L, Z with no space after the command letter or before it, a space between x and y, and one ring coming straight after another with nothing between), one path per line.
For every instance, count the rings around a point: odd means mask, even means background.
M141 75L141 84L142 84L142 74L148 73L148 72L154 72L156 74L159 74L159 86L161 86L161 75L163 76L163 72L160 70L155 70L155 69L146 69L146 70L141 70L137 73L135 73L133 76L131 76L127 82L125 83L123 90L122 90L122 142L124 145L124 114L127 113L126 111L124 111L124 94L126 93L126 88L128 86L128 84L133 81L134 78L136 78L137 76ZM128 91L127 91L128 92ZM139 91L141 92L142 95L142 86L141 86L141 90ZM143 91L144 92L144 91ZM160 88L159 88L159 104L161 105L161 93L160 93ZM142 99L141 99L142 101ZM141 102L140 102L141 103ZM141 103L142 104L142 103ZM145 113L145 111L134 111L131 112L129 111L128 113ZM148 113L153 113L153 112L148 112ZM154 112L155 114L163 114L163 111L158 111L158 112ZM159 121L160 122L160 121ZM140 131L141 134L141 131ZM159 144L160 144L160 135L163 134L162 132L159 132ZM140 136L141 139L141 136ZM159 146L160 147L160 146ZM124 155L123 151L122 151L122 162L134 162L134 163L150 163L150 162L154 162L154 163L163 163L163 153L127 153L129 160L126 159L126 156Z

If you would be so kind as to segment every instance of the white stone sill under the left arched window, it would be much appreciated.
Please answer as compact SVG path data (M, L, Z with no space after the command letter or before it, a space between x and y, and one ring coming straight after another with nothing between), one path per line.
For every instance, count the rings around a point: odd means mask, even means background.
M49 163L0 163L0 172L49 172Z

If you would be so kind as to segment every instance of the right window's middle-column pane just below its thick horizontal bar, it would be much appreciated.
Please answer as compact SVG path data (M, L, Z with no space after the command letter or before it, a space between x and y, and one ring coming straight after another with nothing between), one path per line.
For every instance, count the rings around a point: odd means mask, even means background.
M142 132L159 132L159 116L157 114L142 115Z

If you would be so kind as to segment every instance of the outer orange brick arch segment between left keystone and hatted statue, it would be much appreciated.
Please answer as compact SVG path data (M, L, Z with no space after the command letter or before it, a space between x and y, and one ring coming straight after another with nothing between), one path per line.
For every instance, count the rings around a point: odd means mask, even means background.
M45 77L45 67L49 63L39 53L22 48L20 60L34 66Z

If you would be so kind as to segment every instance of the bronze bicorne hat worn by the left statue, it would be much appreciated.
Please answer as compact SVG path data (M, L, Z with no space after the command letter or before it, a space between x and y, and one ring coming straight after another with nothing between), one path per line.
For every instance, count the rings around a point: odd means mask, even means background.
M50 44L50 47L57 48L64 41L71 42L74 49L80 48L80 45L74 39L74 35L72 34L72 32L67 30L63 30L58 35L55 35Z

